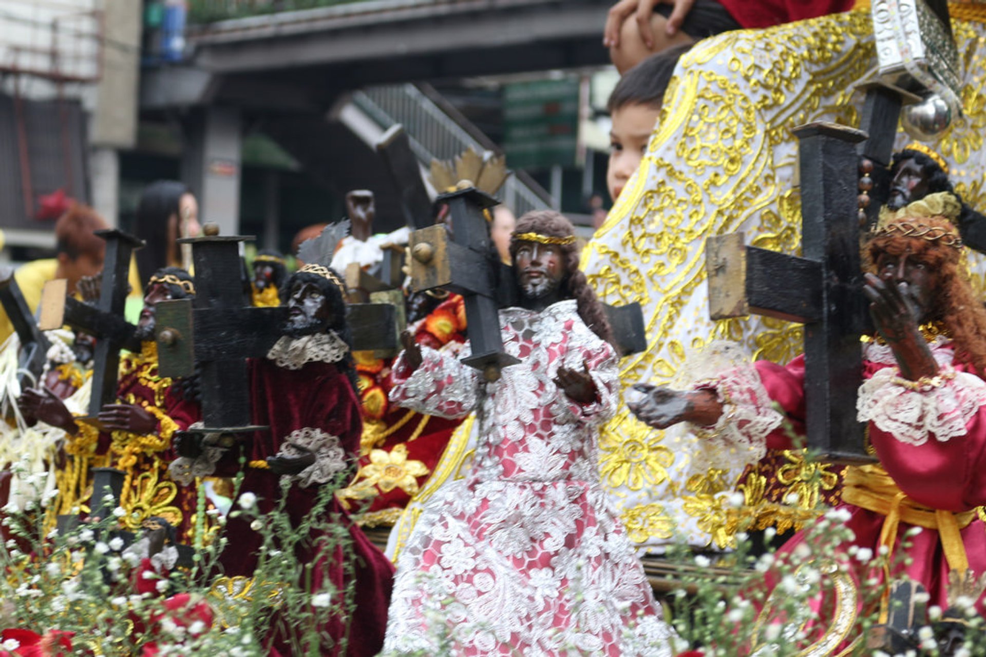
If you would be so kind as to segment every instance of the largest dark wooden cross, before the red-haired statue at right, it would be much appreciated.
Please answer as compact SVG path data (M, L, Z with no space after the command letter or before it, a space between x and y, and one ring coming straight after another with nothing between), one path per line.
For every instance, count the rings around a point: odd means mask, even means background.
M862 293L855 144L866 133L834 123L795 128L800 140L803 257L706 242L713 319L762 314L805 324L808 446L837 463L872 462L856 422L862 381Z

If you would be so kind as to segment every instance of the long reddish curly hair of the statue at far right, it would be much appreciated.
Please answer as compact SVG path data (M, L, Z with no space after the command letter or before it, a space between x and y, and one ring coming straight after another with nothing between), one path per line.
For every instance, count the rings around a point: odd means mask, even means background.
M944 217L897 220L894 224L920 224L923 229L949 233L957 239L951 222ZM881 230L867 246L874 263L880 253L916 259L935 272L938 287L932 307L933 319L942 321L955 344L956 356L970 361L980 373L986 373L986 308L976 298L972 285L960 270L963 250L942 239L927 239L903 230Z

